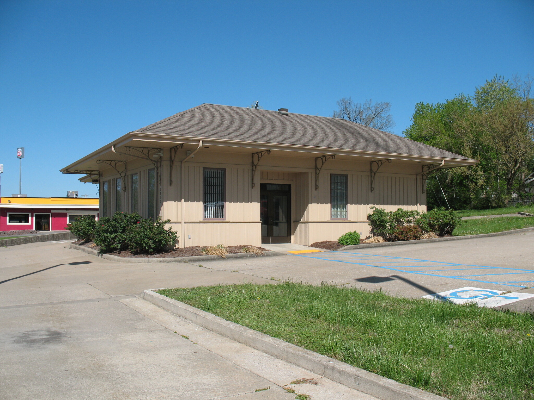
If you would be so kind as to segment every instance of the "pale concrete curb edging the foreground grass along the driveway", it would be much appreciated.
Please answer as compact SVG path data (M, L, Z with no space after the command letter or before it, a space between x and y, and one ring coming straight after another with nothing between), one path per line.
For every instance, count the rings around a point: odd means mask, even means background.
M381 377L334 358L273 338L246 326L226 321L224 318L170 299L152 290L145 290L141 293L141 298L170 311L172 314L189 319L210 331L303 367L334 382L363 391L371 396L383 400L445 400L444 397Z

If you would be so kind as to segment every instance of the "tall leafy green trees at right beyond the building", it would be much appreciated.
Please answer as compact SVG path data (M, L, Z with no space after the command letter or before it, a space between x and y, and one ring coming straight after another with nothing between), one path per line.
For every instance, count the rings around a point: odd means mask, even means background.
M473 97L417 103L407 138L479 160L476 166L442 170L428 180L430 208L498 207L522 191L534 169L531 79L514 83L494 76ZM446 197L446 201L445 201Z

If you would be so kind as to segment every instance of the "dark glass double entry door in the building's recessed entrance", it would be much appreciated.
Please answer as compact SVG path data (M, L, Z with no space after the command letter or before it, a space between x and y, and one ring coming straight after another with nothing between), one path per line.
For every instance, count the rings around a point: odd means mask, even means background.
M291 243L291 185L261 184L262 243Z

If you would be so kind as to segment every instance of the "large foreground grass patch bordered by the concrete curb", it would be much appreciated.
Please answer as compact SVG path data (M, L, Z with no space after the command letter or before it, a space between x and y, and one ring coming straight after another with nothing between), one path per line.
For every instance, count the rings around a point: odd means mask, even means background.
M159 293L454 400L534 396L531 314L288 282Z

